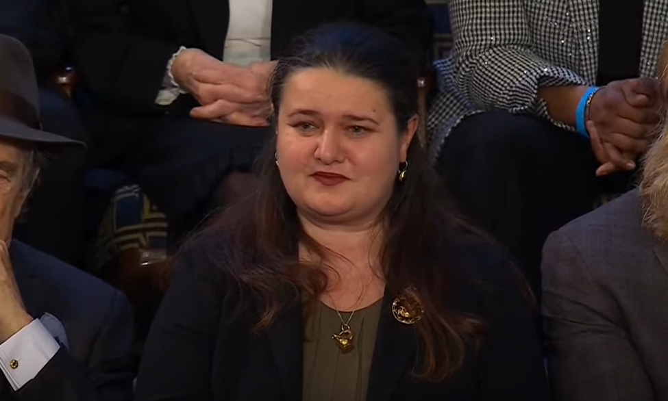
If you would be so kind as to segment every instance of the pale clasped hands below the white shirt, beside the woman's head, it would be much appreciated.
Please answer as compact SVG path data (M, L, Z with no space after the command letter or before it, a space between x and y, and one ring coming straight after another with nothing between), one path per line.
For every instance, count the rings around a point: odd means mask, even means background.
M271 115L267 86L274 66L266 62L244 68L187 49L174 60L172 75L200 104L190 111L193 118L266 127Z

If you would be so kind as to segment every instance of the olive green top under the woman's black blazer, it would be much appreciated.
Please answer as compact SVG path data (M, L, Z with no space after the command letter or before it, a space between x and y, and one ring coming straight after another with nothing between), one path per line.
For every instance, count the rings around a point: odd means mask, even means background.
M378 331L381 300L355 311L349 326L353 349L342 353L332 335L341 332L334 309L318 302L304 324L303 401L363 401ZM344 321L349 312L341 313Z

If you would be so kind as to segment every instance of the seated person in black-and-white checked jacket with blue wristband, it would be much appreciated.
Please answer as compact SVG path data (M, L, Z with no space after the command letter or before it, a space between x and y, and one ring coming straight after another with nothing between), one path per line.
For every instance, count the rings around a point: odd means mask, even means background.
M430 156L462 211L512 251L539 295L547 235L601 192L626 192L647 149L661 97L647 77L668 38L667 5L472 3L449 2L454 49L436 63Z

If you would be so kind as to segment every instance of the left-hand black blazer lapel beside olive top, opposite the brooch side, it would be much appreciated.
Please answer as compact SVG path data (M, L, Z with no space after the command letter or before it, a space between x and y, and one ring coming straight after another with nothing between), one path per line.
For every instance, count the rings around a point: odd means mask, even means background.
M267 329L286 400L301 400L304 370L304 322L301 302L286 309Z

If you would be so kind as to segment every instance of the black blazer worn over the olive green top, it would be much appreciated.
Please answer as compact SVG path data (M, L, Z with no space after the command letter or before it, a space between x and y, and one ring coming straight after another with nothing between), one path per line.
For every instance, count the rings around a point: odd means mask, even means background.
M411 374L419 357L417 335L393 318L394 296L386 294L367 400L547 400L535 322L507 259L471 240L462 240L455 254L462 268L452 275L450 305L484 319L482 348L477 355L469 350L449 383L418 382ZM258 302L240 300L238 287L210 262L224 260L215 242L190 246L178 260L145 345L137 401L301 400L301 306L253 334ZM235 314L238 302L242 311Z

